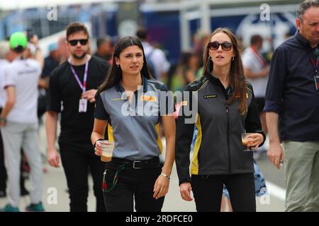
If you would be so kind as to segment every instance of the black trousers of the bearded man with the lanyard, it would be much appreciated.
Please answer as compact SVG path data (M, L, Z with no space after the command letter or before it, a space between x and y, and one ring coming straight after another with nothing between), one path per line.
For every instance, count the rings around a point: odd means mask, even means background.
M96 197L96 212L105 212L102 193L104 162L101 162L99 156L94 155L94 148L91 143L82 145L83 150L78 150L70 144L59 144L69 189L70 211L87 211L86 202L89 192L88 177L90 170L94 184L94 196Z

